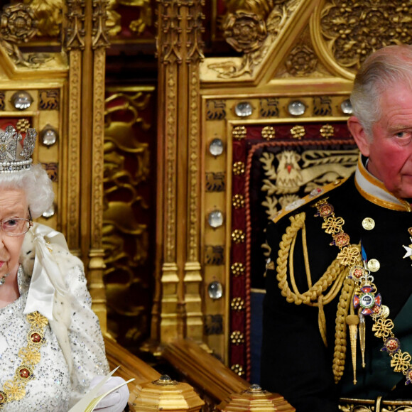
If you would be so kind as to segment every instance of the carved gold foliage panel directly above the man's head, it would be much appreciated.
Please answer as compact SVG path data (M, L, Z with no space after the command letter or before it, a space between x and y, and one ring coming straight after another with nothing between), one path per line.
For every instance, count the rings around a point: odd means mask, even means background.
M321 32L337 63L357 70L374 50L412 43L412 1L332 0L321 14Z

